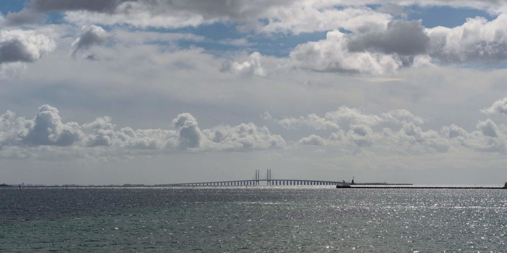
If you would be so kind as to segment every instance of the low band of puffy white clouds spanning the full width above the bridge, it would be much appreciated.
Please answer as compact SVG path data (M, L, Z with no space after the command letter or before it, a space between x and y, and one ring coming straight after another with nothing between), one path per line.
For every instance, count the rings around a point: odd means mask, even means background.
M496 101L485 113L504 113L501 105L507 98ZM500 105L501 104L501 105ZM298 118L273 120L286 131L303 127L318 131L330 130L328 138L311 134L297 142L288 143L272 134L266 126L241 123L236 126L218 125L201 130L197 119L190 113L181 113L172 120L173 129L116 130L109 116L78 124L62 122L57 108L39 107L31 119L17 117L12 111L0 115L0 149L17 147L30 149L38 146L75 146L79 148L104 147L122 155L122 150L173 150L187 152L247 151L261 149L295 148L299 145L336 146L347 151L379 149L397 154L449 152L470 149L476 152L507 153L507 125L498 126L491 119L478 120L476 131L468 133L451 124L440 130L423 131L421 117L407 110L392 110L380 115L368 114L356 108L341 106L323 117L314 113ZM118 152L119 151L119 152ZM130 152L131 154L132 152Z

